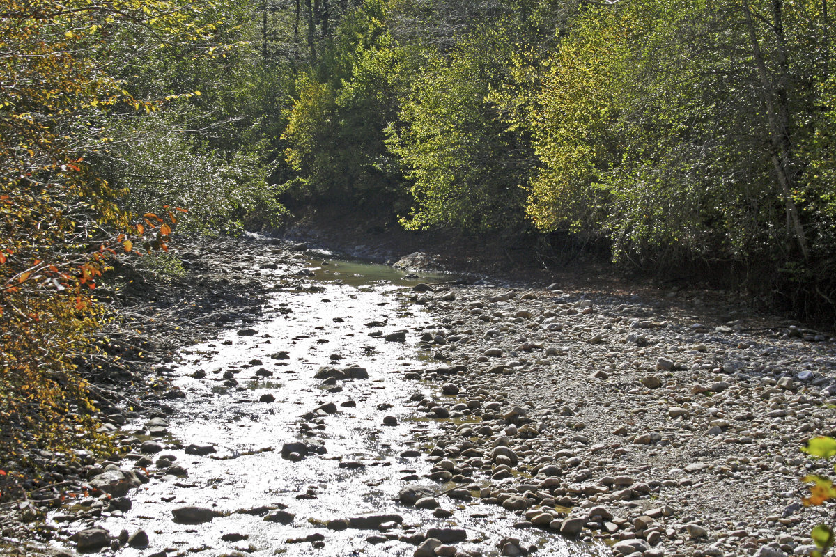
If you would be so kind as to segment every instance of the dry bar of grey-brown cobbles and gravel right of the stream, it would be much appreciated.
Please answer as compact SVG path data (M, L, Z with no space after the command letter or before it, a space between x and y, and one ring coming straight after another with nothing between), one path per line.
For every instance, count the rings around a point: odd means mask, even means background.
M800 452L836 433L833 337L715 317L670 297L546 288L415 292L435 326L411 332L437 362L407 372L443 397L431 458L492 479L482 500L532 528L609 539L615 554L810 554L832 508L807 508ZM417 398L417 397L416 397ZM447 464L450 467L450 464Z

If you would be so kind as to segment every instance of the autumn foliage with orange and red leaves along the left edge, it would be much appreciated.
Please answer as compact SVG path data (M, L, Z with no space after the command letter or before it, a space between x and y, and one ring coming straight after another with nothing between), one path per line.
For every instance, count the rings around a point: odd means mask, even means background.
M115 121L166 102L131 94L119 70L136 49L152 54L210 37L217 24L189 14L211 6L3 0L0 463L4 470L14 463L18 478L36 468L38 449L110 450L94 433L95 408L78 369L96 353L105 319L91 292L109 261L134 245L165 250L176 219L130 215L120 204L124 192L90 159L109 149ZM130 43L136 28L155 40Z

